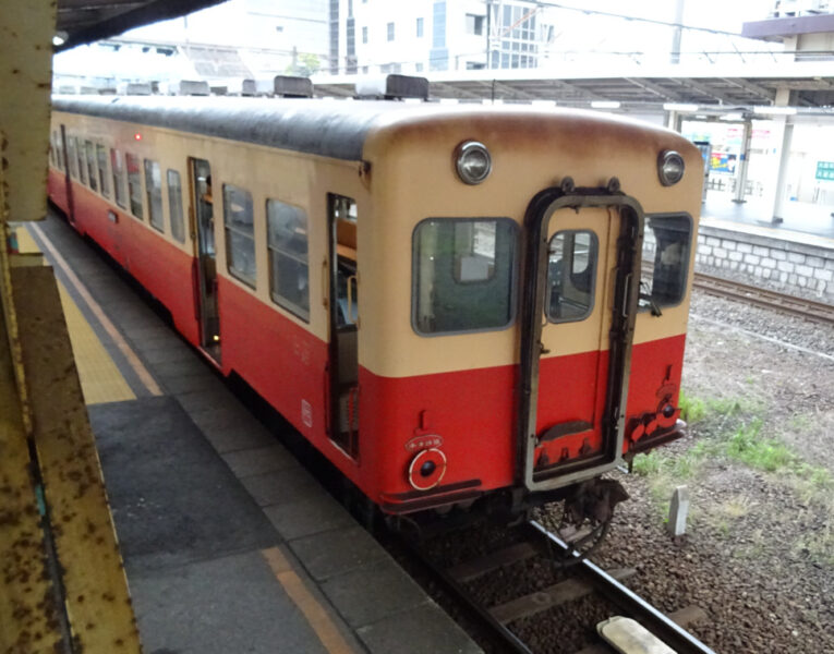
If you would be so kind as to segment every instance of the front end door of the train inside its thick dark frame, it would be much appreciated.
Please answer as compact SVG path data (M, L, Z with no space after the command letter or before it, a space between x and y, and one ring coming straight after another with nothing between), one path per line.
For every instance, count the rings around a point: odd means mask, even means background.
M528 215L520 435L530 489L620 461L642 211L619 193L584 191L545 195Z

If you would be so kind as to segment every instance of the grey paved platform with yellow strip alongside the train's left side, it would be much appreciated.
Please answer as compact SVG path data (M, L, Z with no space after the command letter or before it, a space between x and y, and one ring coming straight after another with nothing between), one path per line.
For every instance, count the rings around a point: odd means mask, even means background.
M55 268L148 654L481 649L53 215Z

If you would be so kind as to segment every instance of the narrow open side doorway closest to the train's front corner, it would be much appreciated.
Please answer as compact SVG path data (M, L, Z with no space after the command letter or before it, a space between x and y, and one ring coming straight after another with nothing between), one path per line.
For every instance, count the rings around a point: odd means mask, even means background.
M359 456L359 269L356 203L328 194L329 234L329 436L352 458Z

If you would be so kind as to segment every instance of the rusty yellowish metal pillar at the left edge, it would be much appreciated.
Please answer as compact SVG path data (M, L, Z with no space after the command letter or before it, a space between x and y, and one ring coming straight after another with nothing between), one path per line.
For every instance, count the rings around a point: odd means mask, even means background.
M0 653L138 653L55 276L13 252L46 215L56 2L0 0Z

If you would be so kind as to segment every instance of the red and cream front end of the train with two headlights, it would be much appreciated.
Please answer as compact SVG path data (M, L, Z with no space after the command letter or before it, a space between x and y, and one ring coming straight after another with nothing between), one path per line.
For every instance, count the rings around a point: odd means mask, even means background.
M364 159L360 485L383 510L593 494L679 435L692 144L592 112L424 107Z

